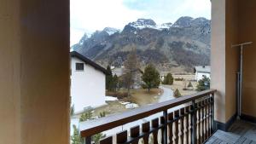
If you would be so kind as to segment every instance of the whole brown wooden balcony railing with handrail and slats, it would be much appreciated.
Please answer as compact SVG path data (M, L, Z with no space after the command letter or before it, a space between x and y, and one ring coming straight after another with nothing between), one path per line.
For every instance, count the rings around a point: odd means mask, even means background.
M85 144L91 144L94 143L91 141L92 135L163 112L160 118L154 118L151 122L134 126L130 130L124 130L116 135L110 135L102 139L100 143L138 144L139 141L143 140L143 144L148 144L149 141L154 144L201 144L214 131L215 91L215 89L208 89L194 95L184 95L171 101L88 121L84 123L86 126L80 134L84 138ZM182 106L182 108L170 112L171 108L177 106ZM149 138L149 135L151 135L151 138Z

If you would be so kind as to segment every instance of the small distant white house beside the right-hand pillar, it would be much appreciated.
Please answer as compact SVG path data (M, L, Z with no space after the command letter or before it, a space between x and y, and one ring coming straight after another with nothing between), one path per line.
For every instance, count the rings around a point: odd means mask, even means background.
M195 80L199 81L203 76L211 78L211 66L195 66Z

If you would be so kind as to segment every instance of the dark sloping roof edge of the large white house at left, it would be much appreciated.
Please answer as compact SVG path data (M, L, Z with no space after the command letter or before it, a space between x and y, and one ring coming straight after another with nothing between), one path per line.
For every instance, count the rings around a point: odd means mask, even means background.
M84 55L79 54L76 51L70 52L70 56L71 57L76 57L79 60L83 60L86 64L88 64L90 66L93 66L94 68L96 68L96 70L99 70L99 71L103 72L106 75L109 74L108 71L104 67L96 64L96 62L94 62L93 60L88 59L87 57L85 57Z

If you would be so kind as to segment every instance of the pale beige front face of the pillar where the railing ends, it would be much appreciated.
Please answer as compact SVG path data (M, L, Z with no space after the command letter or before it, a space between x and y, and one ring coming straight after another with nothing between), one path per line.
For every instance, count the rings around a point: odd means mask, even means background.
M211 88L215 95L215 118L225 122L225 2L212 1Z

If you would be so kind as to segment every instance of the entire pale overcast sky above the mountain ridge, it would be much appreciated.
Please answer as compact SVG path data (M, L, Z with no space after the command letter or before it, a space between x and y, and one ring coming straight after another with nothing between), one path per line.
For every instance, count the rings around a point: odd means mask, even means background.
M91 34L104 27L120 30L139 18L157 24L175 22L181 16L211 19L210 0L71 0L71 45L84 32Z

